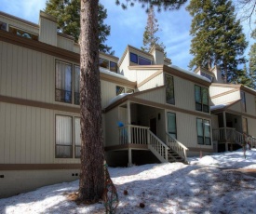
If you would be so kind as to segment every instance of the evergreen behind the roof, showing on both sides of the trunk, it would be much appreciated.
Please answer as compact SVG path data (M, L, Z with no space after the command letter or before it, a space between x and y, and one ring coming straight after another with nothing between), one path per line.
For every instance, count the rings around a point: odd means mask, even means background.
M80 0L47 0L45 11L56 17L58 31L74 36L78 42L80 35ZM99 27L99 50L104 53L114 54L112 47L104 44L110 35L110 26L104 23L107 18L107 10L99 4L98 27Z

